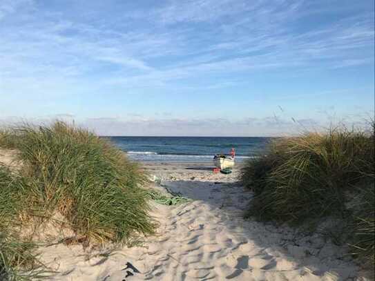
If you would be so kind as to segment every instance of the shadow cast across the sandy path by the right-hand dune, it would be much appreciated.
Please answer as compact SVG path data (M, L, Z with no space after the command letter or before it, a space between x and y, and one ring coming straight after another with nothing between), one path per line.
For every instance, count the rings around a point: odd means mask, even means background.
M192 169L201 168L207 167L198 166ZM248 209L253 193L244 189L240 182L178 180L162 182L162 186L172 193L209 204L209 209L216 216L222 217L220 223L224 224L228 231L233 235L240 233L245 244L254 244L260 249L256 255L244 253L238 257L235 271L227 275L229 280L240 276L242 271L251 271L251 263L253 260L259 260L260 256L267 261L260 267L261 271L277 273L280 276L293 271L298 275L296 278L300 278L298 280L352 280L351 278L358 275L358 267L343 246L326 242L318 235L302 235L287 226L275 226L253 219L244 220L244 211ZM242 231L239 231L241 227ZM294 266L285 267L284 261ZM283 278L285 276L289 275L284 275Z

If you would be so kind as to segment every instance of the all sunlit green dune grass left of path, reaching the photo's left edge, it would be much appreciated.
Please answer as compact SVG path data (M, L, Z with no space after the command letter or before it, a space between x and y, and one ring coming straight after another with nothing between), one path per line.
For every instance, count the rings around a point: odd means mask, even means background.
M16 149L22 163L17 171L0 169L0 270L36 261L32 244L5 229L56 214L85 246L131 246L154 232L144 173L106 139L56 122L2 131L0 147Z

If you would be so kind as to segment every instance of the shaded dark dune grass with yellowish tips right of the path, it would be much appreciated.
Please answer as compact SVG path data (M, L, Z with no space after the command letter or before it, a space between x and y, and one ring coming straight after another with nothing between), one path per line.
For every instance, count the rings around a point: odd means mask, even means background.
M369 245L374 233L374 208L369 206L374 199L367 197L369 203L358 206L359 211L345 204L353 194L359 196L363 186L374 191L374 165L374 135L363 131L340 128L275 139L264 155L242 168L244 186L256 194L248 215L300 224L359 213L354 229L358 250L374 255L374 244Z

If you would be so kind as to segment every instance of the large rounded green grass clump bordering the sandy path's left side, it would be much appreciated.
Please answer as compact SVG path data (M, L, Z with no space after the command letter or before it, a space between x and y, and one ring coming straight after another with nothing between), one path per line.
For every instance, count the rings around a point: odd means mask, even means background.
M145 177L108 141L62 122L23 126L14 135L34 215L61 213L86 242L130 243L153 233L140 188Z

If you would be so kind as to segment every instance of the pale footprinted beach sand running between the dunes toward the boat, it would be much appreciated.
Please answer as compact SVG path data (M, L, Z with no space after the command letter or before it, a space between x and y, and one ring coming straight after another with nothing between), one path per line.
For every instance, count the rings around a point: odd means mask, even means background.
M237 182L238 166L229 175L215 174L203 163L145 163L144 168L155 188L191 200L175 206L152 202L157 235L140 246L112 252L41 246L42 262L57 271L53 280L371 280L346 246L244 220L253 194ZM124 269L127 262L140 273ZM134 275L126 277L127 271Z

